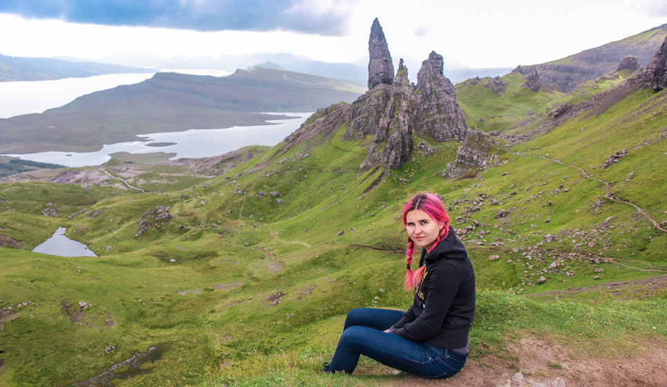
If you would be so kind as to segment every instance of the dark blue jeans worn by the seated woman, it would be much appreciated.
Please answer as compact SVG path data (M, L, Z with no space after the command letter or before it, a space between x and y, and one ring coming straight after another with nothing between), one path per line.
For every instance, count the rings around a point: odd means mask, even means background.
M383 332L402 315L398 310L350 310L336 353L326 370L352 373L357 368L359 355L421 377L451 377L463 368L467 355Z

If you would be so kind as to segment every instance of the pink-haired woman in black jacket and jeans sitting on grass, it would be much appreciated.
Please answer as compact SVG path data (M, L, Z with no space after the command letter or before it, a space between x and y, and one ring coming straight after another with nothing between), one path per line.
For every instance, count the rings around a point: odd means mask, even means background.
M466 249L442 201L431 193L408 201L403 225L408 233L405 287L415 292L413 305L407 312L351 310L324 372L352 373L359 355L422 377L451 377L463 368L475 311L475 272ZM415 246L422 256L413 273Z

